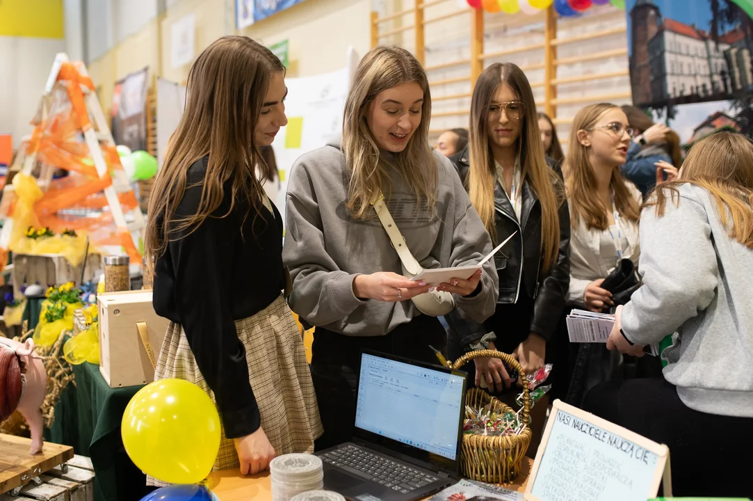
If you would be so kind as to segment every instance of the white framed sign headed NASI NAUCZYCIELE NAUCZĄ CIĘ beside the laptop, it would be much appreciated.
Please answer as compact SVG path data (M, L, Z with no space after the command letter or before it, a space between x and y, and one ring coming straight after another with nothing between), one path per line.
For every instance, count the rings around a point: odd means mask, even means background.
M669 448L560 400L526 485L532 501L646 501L672 496Z

